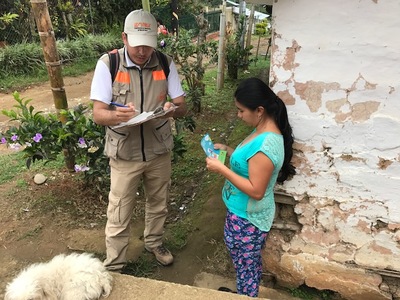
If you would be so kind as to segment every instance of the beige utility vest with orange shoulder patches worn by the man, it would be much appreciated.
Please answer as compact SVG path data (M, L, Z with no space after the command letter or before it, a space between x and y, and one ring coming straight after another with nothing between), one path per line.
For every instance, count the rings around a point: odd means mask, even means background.
M127 68L124 48L118 50L120 64L113 83L113 101L133 102L135 108L152 111L163 106L167 99L168 83L155 53L147 65L139 70ZM107 65L107 55L101 58ZM168 57L168 63L171 58ZM105 153L114 159L149 161L172 151L173 137L169 119L153 119L137 126L106 130Z

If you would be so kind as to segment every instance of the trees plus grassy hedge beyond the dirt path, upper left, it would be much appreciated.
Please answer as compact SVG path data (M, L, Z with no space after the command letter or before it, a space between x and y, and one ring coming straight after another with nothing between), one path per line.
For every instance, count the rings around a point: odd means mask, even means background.
M196 35L196 16L203 11L204 5L213 4L207 1L180 1L179 27ZM141 1L48 0L47 6L63 74L75 76L78 74L69 73L69 65L78 64L81 73L91 71L103 53L122 46L125 16L128 11L140 8ZM150 7L152 13L169 27L172 16L169 2L154 0ZM219 30L219 17L218 9L205 14L209 32ZM30 76L27 81L31 83L47 78L31 4L29 0L1 1L0 91L23 88L20 86L21 76Z

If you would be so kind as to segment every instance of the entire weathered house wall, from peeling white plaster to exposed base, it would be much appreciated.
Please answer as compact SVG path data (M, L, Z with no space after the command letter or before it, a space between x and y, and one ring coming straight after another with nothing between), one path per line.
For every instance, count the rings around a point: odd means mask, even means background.
M269 83L296 141L266 270L289 287L399 299L400 2L251 2L273 5Z

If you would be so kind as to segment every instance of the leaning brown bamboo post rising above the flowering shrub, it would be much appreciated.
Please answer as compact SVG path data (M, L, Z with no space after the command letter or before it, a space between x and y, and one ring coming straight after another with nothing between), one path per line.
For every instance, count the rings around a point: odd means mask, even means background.
M64 80L61 74L61 60L58 55L56 39L51 24L46 0L31 0L32 11L38 28L40 44L49 74L51 91L56 109L68 109ZM60 117L61 122L65 122Z

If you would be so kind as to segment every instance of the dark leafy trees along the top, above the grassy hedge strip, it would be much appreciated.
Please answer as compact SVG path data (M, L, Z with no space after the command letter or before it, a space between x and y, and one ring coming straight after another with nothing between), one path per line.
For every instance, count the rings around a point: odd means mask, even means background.
M203 6L217 7L220 1L180 1L179 26L194 29L194 17ZM47 0L57 40L69 40L86 34L121 32L128 12L140 9L138 0ZM151 12L171 29L172 11L169 1L150 1ZM210 23L219 26L219 12ZM170 30L171 31L171 30ZM0 1L0 42L39 42L30 0Z

